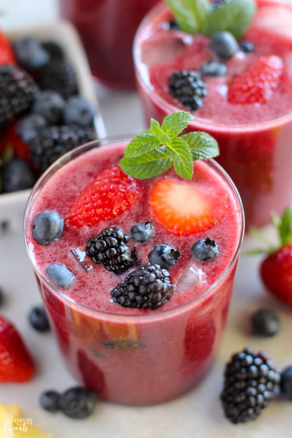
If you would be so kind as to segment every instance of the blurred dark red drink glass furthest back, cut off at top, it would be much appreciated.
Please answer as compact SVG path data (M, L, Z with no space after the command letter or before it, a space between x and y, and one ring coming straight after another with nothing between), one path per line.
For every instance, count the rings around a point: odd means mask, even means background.
M132 43L142 18L158 0L59 0L77 28L92 74L103 84L134 88Z

